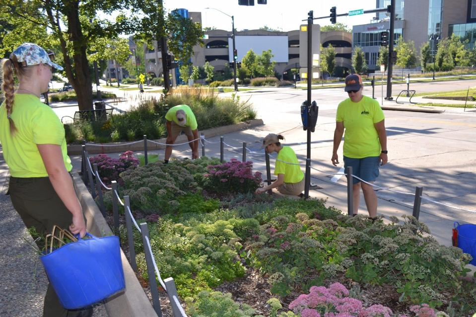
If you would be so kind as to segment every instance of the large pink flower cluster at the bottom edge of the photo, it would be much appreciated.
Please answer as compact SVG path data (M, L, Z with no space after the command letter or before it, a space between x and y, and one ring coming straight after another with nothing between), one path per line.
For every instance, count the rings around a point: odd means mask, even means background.
M349 291L340 283L326 288L313 286L309 294L301 294L289 304L301 317L392 317L390 308L382 305L363 307L358 299L347 297Z

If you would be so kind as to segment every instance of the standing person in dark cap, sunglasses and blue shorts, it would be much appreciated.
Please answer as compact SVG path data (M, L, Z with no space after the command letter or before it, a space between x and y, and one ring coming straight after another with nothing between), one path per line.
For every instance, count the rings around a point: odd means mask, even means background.
M352 166L352 174L373 183L379 176L379 165L387 163L387 133L385 117L379 103L362 95L362 78L357 74L345 78L349 98L337 107L334 148L331 161L339 164L337 150L344 133L344 167ZM372 186L352 177L353 215L358 213L360 188L372 220L377 219L377 195Z

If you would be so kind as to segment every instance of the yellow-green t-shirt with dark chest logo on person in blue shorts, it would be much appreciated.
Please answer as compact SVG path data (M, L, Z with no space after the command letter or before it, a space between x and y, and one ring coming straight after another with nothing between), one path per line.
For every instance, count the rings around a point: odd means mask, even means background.
M380 141L374 124L385 119L379 103L367 96L354 103L350 98L337 107L336 121L343 122L344 156L353 159L380 156Z

